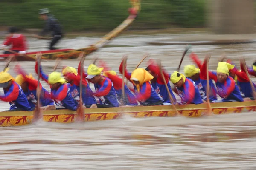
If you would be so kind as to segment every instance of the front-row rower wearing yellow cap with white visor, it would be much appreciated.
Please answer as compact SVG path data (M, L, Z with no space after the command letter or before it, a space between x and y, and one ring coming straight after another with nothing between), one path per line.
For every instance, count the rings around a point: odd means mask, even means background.
M98 68L91 64L87 69L87 77L94 84L96 92L94 96L99 98L99 104L93 104L91 108L111 108L119 107L117 94L113 87L113 83L108 77L101 76L103 68Z

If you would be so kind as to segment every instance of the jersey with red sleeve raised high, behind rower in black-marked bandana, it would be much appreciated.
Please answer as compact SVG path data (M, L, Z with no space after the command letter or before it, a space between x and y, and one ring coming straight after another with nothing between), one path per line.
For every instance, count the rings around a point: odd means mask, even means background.
M201 69L201 61L198 59L198 56L195 53L191 53L189 57L197 64L198 68ZM206 95L206 89L207 89L207 77L206 74L202 74L200 71L199 74L199 79L194 80L195 84L197 85L197 88L199 90L199 93L202 97L203 100L207 100L207 95ZM217 100L217 90L215 88L215 85L212 82L212 79L209 79L209 100Z

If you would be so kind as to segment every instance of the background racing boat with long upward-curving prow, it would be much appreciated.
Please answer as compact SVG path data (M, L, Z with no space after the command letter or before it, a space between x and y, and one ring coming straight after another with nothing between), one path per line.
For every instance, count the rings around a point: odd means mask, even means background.
M140 11L140 0L130 0L133 9L136 9L137 12ZM102 37L101 40L96 42L93 45L90 45L81 49L61 49L61 50L49 50L49 51L37 51L37 52L28 52L26 55L17 56L15 59L17 61L35 61L36 54L41 52L43 54L42 59L73 59L79 57L79 54L84 51L85 54L90 54L93 51L96 51L99 48L104 47L111 39L117 37L122 31L125 30L131 23L136 19L137 14L130 14L127 19L125 19L119 26L113 29L111 32ZM0 57L9 57L10 54L0 54Z

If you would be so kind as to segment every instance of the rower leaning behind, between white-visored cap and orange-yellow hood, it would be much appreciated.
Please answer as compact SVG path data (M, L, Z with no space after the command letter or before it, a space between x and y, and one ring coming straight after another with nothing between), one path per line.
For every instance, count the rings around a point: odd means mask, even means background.
M104 71L103 76L108 77L113 82L116 94L118 96L118 100L122 101L122 79L116 75L116 72L113 70ZM130 91L130 89L125 85L125 99L122 101L124 105L138 105L134 95Z

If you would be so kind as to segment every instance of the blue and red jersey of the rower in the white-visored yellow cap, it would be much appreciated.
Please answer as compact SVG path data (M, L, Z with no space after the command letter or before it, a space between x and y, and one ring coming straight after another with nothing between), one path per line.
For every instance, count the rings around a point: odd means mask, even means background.
M94 88L96 93L93 93L93 95L99 98L99 104L119 107L116 91L109 78L104 77L102 82L94 84Z

